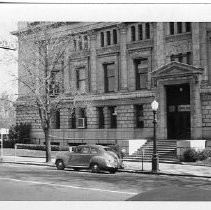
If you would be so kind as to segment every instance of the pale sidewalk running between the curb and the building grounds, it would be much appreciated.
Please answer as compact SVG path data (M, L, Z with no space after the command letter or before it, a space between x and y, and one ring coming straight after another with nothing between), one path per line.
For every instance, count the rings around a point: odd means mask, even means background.
M35 158L35 157L14 157L14 156L4 156L3 163L13 163L13 164L28 164L28 165L42 165L55 167L55 160L52 159L51 163L46 163L45 158ZM146 173L152 174L151 172L151 162L144 162L143 168L141 162L131 162L124 161L124 169L121 172L130 173ZM143 170L142 170L143 169ZM204 177L211 178L211 167L206 166L194 166L189 164L172 164L172 163L159 163L159 173L160 175L171 175L171 176L191 176L191 177Z

